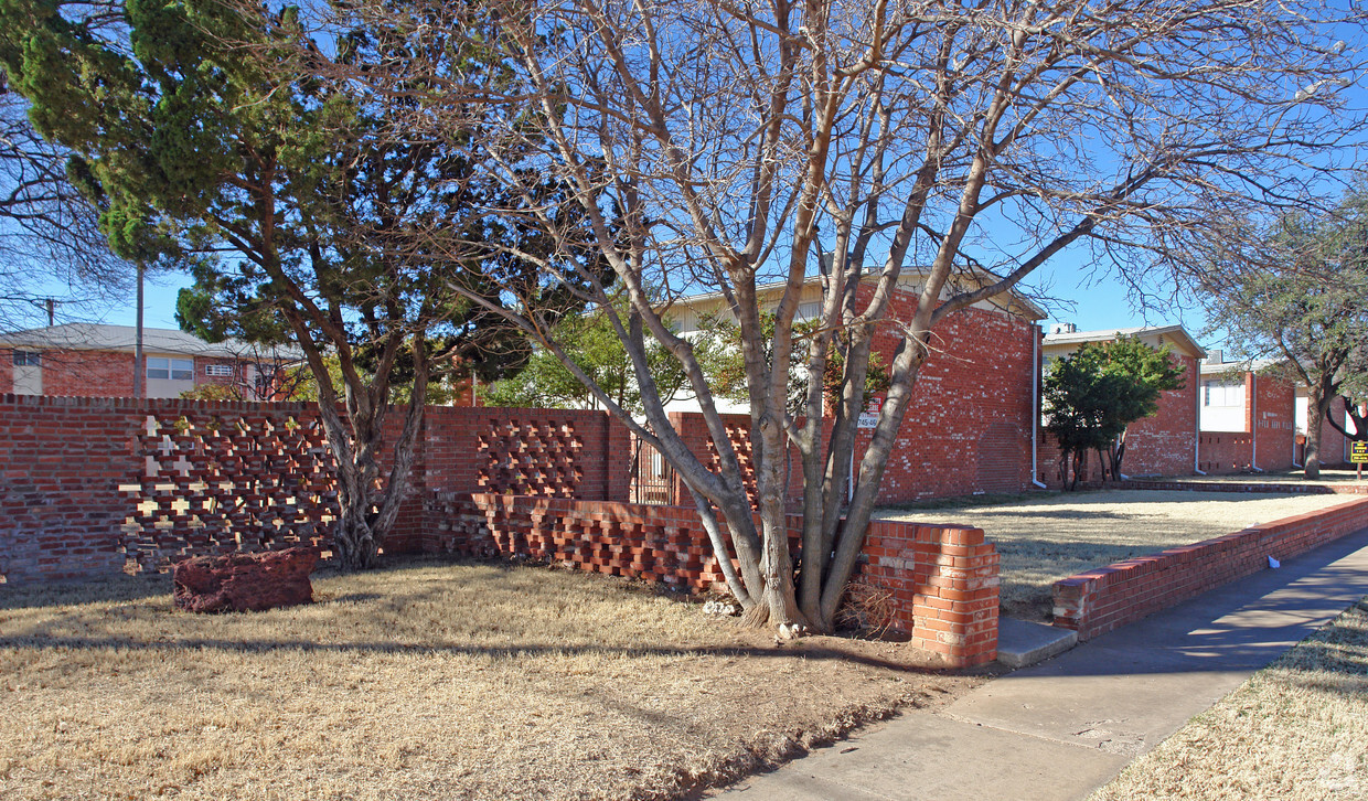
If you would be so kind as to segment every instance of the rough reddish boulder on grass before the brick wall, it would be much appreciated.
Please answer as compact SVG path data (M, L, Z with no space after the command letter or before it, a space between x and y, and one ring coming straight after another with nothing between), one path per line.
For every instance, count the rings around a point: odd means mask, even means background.
M175 605L189 612L245 612L313 602L313 548L196 556L175 565Z

